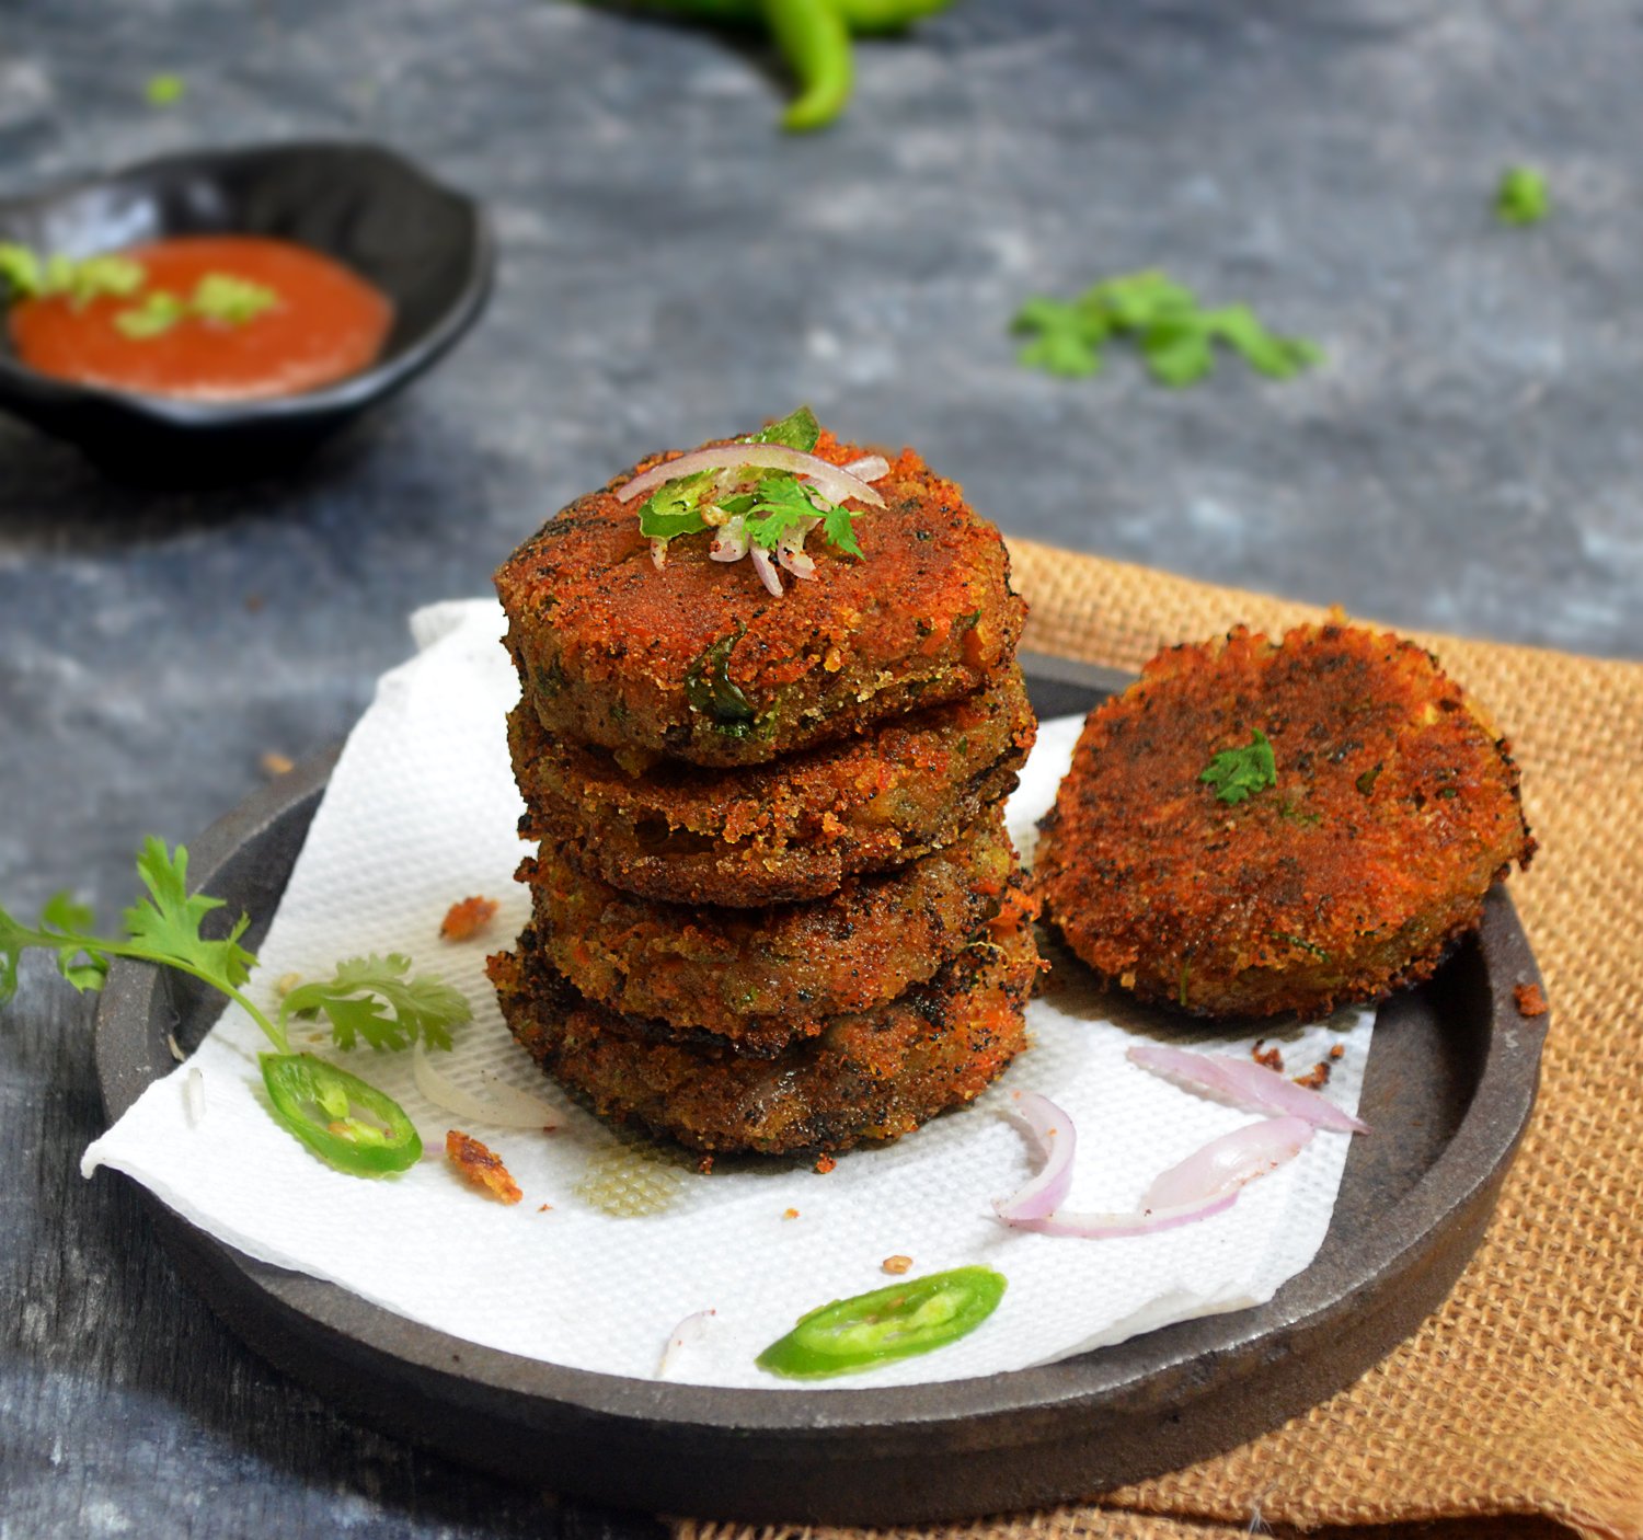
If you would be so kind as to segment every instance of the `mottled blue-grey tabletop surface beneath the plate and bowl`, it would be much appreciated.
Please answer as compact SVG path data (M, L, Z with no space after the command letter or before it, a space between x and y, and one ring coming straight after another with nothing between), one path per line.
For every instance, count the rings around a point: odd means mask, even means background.
M197 143L371 136L488 201L488 317L288 480L156 496L0 424L0 902L112 919L347 731L404 615L636 455L802 399L1007 531L1408 626L1643 654L1643 23L1590 0L960 0L775 131L752 39L559 0L95 0L0 18L0 196ZM187 79L169 110L159 71ZM1502 168L1553 220L1489 215ZM1328 363L1171 393L1020 370L1032 293L1165 266ZM0 1019L0 1537L600 1530L242 1353L82 1183L89 1004Z

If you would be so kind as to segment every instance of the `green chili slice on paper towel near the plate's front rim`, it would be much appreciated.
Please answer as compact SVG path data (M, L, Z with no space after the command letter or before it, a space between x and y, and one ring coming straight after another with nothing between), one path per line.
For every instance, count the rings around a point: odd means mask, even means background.
M974 1331L1004 1298L1004 1274L955 1267L833 1300L759 1354L784 1379L826 1379L945 1348Z

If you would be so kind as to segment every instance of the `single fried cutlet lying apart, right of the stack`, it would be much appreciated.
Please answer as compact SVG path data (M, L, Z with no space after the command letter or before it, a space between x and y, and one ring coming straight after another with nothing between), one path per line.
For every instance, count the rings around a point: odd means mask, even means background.
M1277 779L1226 800L1203 772L1257 731ZM1071 948L1199 1016L1426 978L1535 850L1507 740L1429 652L1339 623L1160 652L1091 713L1042 830Z

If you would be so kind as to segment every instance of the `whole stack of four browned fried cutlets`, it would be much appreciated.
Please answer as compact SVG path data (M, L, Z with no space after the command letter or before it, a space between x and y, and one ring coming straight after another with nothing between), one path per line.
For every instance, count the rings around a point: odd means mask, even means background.
M503 1012L598 1114L695 1149L894 1139L1009 1063L1038 970L1002 822L1035 731L1002 541L904 450L859 557L815 542L775 597L710 533L652 559L618 491L654 463L496 575L539 841Z

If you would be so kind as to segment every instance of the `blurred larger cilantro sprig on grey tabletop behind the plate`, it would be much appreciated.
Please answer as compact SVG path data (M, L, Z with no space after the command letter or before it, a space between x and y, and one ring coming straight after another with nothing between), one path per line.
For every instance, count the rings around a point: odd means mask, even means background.
M1270 332L1249 306L1201 307L1191 289L1158 271L1107 278L1073 301L1035 296L1015 314L1012 330L1032 334L1017 355L1024 365L1070 376L1099 373L1111 339L1132 340L1152 376L1170 386L1209 375L1216 344L1273 380L1323 357L1305 339Z

